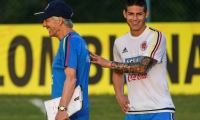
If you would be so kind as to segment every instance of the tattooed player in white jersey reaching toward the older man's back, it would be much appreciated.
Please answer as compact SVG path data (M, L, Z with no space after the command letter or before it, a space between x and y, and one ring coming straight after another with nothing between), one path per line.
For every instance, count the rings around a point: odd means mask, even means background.
M145 0L127 0L123 15L130 32L114 43L114 62L91 53L92 63L114 70L116 99L125 120L173 120L175 107L166 78L165 35L145 25ZM123 94L124 76L128 98Z

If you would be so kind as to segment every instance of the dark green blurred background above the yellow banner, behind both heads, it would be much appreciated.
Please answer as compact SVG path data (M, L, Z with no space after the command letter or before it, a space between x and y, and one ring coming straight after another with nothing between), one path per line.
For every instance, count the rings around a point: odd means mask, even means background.
M39 23L33 15L43 11L51 0L1 0L0 24ZM73 22L125 22L125 0L64 0L73 11ZM198 22L200 0L146 0L151 22Z

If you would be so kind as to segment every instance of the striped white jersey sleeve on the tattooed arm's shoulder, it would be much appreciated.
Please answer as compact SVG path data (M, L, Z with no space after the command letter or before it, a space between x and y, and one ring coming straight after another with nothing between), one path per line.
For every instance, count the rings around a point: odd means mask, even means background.
M148 40L148 47L145 56L161 62L166 54L166 38L162 32L154 31L153 36Z

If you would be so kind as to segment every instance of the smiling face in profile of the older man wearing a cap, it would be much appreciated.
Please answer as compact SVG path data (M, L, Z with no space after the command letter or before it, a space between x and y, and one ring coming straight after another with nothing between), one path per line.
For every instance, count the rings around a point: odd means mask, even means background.
M42 25L43 27L46 27L46 29L49 31L50 37L58 36L59 20L54 20L52 17L50 17L50 18L45 19Z

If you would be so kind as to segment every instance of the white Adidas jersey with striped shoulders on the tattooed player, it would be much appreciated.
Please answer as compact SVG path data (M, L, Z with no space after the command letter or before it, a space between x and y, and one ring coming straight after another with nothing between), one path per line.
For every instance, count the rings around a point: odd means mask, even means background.
M166 38L163 33L146 27L138 37L131 33L115 40L114 61L139 62L148 56L158 62L146 74L125 73L130 111L127 114L175 112L166 77Z

